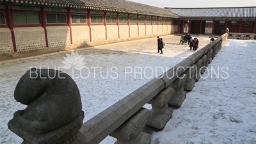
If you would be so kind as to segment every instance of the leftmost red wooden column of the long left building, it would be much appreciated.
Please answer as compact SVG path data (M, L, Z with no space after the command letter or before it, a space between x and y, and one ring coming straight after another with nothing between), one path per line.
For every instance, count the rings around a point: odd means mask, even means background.
M15 35L14 35L14 31L13 31L13 15L12 15L12 10L10 8L11 8L11 6L7 6L6 16L7 16L8 28L11 31L13 51L17 52Z

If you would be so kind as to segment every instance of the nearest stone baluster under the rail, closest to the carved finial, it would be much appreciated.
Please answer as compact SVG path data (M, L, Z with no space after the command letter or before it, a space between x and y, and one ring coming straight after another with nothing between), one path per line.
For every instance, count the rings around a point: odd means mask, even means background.
M110 134L110 136L117 139L115 144L149 144L151 136L150 134L142 132L142 130L147 124L150 116L150 110L141 108L137 113L129 118L129 120Z

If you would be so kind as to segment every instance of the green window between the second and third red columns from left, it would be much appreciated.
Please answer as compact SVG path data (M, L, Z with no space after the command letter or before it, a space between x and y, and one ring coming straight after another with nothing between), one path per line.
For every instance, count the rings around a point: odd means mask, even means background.
M67 15L65 13L46 13L47 24L67 24Z

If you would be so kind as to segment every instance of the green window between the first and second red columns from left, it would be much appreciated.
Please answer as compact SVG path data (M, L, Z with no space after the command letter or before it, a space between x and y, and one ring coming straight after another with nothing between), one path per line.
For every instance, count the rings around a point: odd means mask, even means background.
M13 12L14 24L40 24L39 13Z

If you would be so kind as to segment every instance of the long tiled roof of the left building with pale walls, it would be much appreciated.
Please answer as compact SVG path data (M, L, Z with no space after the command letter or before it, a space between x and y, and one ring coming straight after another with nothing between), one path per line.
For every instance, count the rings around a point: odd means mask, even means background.
M158 8L156 6L148 6L146 4L125 0L0 0L0 3L1 1L16 4L84 8L89 10L104 10L110 12L137 13L141 15L178 18L177 15L165 8Z

